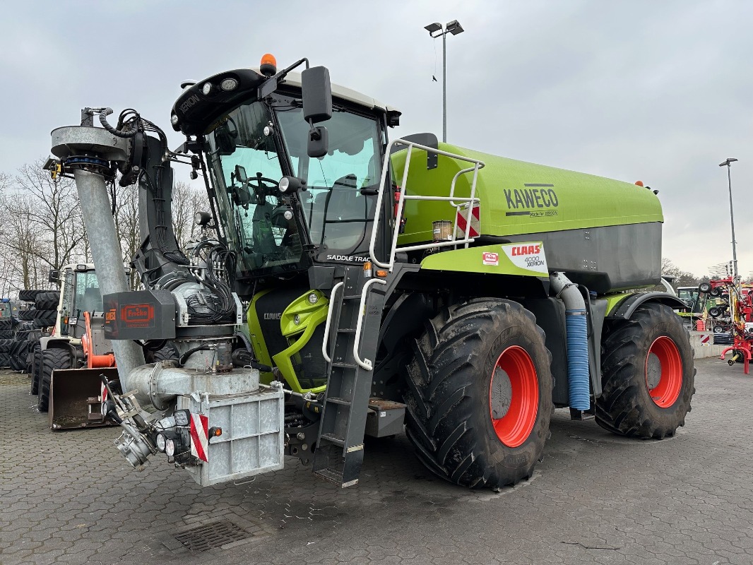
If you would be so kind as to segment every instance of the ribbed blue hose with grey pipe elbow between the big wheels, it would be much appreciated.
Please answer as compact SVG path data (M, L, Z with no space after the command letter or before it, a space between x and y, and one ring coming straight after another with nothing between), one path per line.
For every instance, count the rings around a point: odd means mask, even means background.
M565 273L549 276L552 291L565 303L567 335L568 401L571 408L590 408L590 373L588 368L588 324L583 295Z

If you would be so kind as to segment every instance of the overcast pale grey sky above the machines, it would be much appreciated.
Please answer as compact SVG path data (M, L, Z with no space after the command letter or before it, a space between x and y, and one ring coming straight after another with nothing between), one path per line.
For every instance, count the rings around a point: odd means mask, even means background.
M727 157L739 271L753 270L753 2L13 2L0 33L0 171L47 156L84 106L137 108L169 127L184 79L302 56L403 111L397 133L660 191L663 255L705 273L729 261ZM171 145L181 143L172 133Z

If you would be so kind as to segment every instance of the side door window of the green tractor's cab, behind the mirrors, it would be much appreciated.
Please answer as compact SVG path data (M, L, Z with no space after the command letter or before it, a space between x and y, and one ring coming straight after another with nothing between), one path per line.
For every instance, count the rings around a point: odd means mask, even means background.
M306 180L300 200L312 243L324 255L367 255L380 180L377 119L335 105L324 123L329 153L314 159L306 154L309 124L300 104L285 97L275 102L294 174Z

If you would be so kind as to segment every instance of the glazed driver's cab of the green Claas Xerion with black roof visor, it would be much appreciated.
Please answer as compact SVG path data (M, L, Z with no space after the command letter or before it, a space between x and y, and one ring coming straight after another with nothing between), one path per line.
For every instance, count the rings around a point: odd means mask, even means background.
M222 77L230 75L239 78L238 90L248 85L247 92L232 98L215 93L213 100L203 95L203 90L212 92L203 85L223 84ZM181 130L201 139L209 194L221 238L236 252L240 282L289 278L312 264L353 264L369 256L386 148L386 107L333 86L331 116L321 126L326 128L323 154L312 156L313 124L304 114L304 96L314 95L300 76L290 72L267 92L267 79L254 70L215 75L184 90L173 108ZM300 183L300 190L288 189L288 181L281 190L284 177L296 188ZM389 199L382 208L380 214L392 213ZM380 221L387 223L384 217ZM377 234L377 242L377 253L385 256L386 237Z

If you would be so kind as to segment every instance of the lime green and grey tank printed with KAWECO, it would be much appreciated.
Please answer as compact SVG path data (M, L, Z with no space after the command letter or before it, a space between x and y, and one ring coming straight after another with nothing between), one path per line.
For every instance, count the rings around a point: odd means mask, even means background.
M658 284L661 276L661 204L643 186L497 157L456 145L441 151L477 159L478 232L474 245L541 241L548 270L604 294ZM407 151L392 155L393 178L401 182ZM427 167L425 151L413 150L407 194L447 196L453 177L468 163L440 155ZM454 194L470 197L473 173L459 176ZM431 241L434 221L456 223L448 202L406 200L398 245ZM448 267L453 252L444 252ZM435 262L432 258L430 262Z

